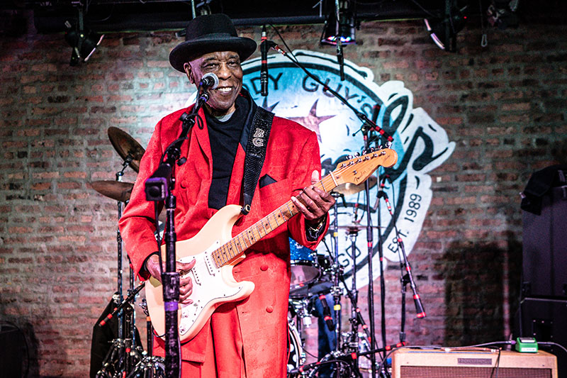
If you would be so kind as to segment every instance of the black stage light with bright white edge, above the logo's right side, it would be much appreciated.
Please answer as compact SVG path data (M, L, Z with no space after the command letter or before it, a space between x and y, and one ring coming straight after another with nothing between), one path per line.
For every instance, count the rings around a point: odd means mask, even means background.
M462 9L448 7L445 17L440 19L425 18L425 27L433 42L442 50L456 51L456 35L463 30L466 23L466 6Z

